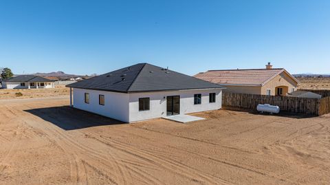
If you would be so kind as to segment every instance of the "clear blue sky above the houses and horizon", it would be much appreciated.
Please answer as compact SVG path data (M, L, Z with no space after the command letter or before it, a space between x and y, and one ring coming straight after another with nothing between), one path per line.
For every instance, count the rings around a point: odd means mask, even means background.
M0 0L0 67L102 74L152 63L196 74L330 74L330 1Z

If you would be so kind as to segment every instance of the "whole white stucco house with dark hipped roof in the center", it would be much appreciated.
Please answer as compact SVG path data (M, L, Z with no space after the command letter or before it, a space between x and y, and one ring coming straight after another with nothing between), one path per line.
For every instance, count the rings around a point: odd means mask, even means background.
M124 67L67 87L73 107L123 122L221 109L223 89L148 63Z

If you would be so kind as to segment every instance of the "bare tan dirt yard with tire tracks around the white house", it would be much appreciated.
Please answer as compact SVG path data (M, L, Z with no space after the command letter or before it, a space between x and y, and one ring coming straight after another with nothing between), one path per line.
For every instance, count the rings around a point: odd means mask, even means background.
M330 116L134 124L67 98L0 101L0 184L329 184Z

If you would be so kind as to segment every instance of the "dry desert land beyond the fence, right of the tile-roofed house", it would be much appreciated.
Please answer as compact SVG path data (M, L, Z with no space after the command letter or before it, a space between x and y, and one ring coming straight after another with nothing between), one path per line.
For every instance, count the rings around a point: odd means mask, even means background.
M329 89L330 78L298 78L299 89Z

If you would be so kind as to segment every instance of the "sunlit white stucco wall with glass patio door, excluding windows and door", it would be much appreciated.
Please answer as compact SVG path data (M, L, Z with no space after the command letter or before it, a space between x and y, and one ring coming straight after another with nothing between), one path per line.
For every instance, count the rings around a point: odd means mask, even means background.
M209 94L216 94L216 102L209 102ZM194 105L194 94L201 94L201 104ZM221 109L221 89L161 91L129 94L129 121L135 122L166 116L166 97L180 96L180 114ZM139 111L139 98L150 98L150 110Z

